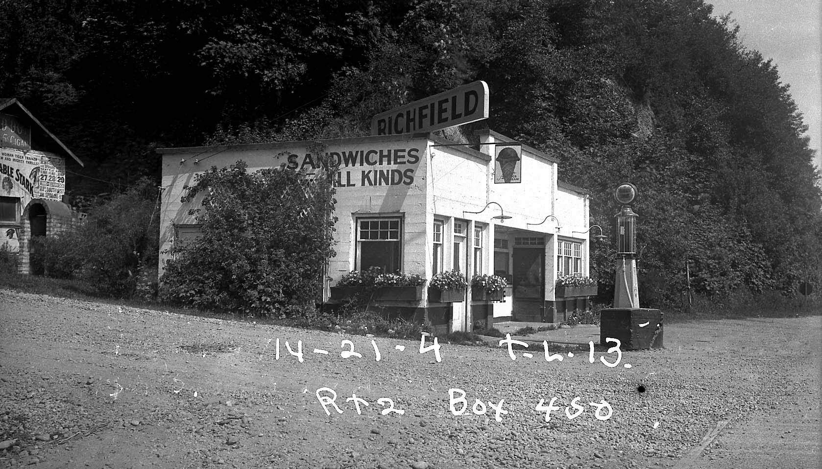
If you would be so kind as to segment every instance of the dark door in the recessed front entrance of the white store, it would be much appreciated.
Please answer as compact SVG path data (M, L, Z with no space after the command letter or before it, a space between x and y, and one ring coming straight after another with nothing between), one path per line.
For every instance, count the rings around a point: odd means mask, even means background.
M514 248L514 319L543 320L545 307L545 248Z

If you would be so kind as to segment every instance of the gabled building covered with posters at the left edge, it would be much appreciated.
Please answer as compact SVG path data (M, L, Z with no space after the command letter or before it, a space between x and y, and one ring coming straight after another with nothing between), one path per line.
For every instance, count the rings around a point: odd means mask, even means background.
M0 248L18 253L21 273L32 273L32 237L81 217L63 202L67 162L83 165L23 104L0 98Z

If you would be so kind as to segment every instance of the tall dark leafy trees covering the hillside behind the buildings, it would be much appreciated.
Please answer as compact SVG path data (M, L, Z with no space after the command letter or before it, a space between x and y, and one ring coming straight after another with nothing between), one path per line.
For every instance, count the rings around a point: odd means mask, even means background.
M822 285L820 174L774 63L704 0L100 2L0 16L16 96L109 181L159 172L156 146L354 137L373 114L487 81L488 126L556 156L612 227L640 188L640 295ZM44 32L47 31L47 32ZM113 58L116 58L113 59ZM613 278L610 244L592 271ZM601 284L607 290L607 283Z

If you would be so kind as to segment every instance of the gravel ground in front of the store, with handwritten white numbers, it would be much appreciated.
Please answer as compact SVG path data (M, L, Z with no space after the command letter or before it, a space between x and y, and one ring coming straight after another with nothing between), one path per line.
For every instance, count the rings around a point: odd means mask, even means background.
M820 316L664 334L438 359L0 290L0 467L819 467Z

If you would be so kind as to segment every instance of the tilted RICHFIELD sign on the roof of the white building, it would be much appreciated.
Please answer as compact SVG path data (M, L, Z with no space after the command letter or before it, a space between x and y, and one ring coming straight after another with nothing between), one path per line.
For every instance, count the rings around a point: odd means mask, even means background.
M376 114L371 119L371 134L434 132L483 118L488 118L488 85L474 81Z

